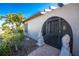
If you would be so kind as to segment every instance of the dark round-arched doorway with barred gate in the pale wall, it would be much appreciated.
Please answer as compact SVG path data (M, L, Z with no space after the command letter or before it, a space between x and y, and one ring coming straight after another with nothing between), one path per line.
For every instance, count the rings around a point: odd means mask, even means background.
M50 46L61 49L61 38L65 34L70 35L69 45L72 53L73 33L68 22L61 17L54 16L47 19L43 24L42 36L44 38L44 42Z

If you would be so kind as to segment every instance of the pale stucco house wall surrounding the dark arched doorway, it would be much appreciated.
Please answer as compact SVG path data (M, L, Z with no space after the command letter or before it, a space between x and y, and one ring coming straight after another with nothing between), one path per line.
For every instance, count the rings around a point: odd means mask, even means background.
M79 55L79 4L69 4L34 18L28 23L29 36L38 40L44 22L52 16L62 17L70 24L73 31L73 54Z

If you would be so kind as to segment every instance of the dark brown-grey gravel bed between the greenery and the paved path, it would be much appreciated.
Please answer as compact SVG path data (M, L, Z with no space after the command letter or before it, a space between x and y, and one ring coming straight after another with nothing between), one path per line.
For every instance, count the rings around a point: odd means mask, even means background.
M13 56L27 56L30 52L35 50L38 46L36 45L36 41L31 38L26 38L24 43L18 51L13 53Z

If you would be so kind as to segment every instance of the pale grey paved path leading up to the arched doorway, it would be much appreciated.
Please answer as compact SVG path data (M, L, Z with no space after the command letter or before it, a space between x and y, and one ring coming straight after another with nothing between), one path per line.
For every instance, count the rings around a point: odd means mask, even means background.
M28 56L58 56L59 50L47 44L31 52Z

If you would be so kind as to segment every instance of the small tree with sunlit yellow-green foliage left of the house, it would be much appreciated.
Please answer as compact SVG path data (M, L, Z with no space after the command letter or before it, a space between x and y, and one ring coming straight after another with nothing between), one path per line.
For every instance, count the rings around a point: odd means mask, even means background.
M22 14L13 13L10 13L1 18L6 18L5 22L2 25L4 30L4 33L2 34L3 41L9 43L10 46L14 45L15 50L17 51L18 46L24 39L24 28L22 24L25 18Z

